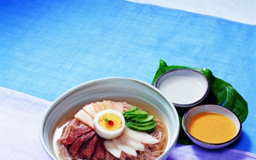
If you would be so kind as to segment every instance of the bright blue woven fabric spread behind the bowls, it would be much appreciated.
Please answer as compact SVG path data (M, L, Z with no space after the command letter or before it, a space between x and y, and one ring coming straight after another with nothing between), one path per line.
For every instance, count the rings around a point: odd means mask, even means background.
M256 154L256 26L123 0L1 0L0 86L54 101L102 77L151 83L167 65L210 69L248 102L229 147Z

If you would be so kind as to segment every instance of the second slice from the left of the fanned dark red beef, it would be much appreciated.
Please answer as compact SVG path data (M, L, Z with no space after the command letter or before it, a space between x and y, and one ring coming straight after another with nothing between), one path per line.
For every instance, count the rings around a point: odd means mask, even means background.
M79 148L82 146L83 143L90 140L94 135L96 135L95 131L91 131L86 134L82 134L77 140L70 145L70 152L71 154L76 155Z

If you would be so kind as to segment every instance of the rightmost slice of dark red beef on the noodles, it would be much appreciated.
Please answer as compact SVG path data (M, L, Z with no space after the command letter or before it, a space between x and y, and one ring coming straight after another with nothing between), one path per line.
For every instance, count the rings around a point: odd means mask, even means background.
M99 137L95 150L91 156L92 160L103 160L105 157L104 139Z

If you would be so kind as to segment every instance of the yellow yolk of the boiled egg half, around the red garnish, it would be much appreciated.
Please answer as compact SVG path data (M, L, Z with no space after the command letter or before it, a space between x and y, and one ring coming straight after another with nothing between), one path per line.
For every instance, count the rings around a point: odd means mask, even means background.
M111 120L114 122L113 125L109 125L108 122L105 121L105 119ZM99 119L99 125L109 131L115 131L122 127L122 120L121 118L114 114L114 113L107 113L105 115L102 115Z

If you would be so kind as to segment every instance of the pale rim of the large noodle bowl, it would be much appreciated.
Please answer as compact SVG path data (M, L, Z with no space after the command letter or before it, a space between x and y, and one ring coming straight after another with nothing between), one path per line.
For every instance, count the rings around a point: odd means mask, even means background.
M41 145L43 146L46 154L49 155L49 157L52 159L52 160L55 160L55 156L54 156L54 153L51 152L51 149L48 148L46 146L46 143L45 143L45 139L44 139L44 123L45 123L45 120L48 116L48 114L51 112L51 109L54 108L54 106L58 105L59 102L61 102L64 98L67 98L68 96L70 96L71 94L73 94L74 92L76 92L77 90L81 89L81 87L83 88L84 86L86 85L89 85L91 83L95 83L95 82L99 82L99 81L102 81L102 80L107 80L107 79L124 79L124 80L131 80L131 81L135 81L137 83L141 83L143 84L144 86L147 86L149 87L150 89L154 90L155 92L157 92L157 94L160 94L171 106L171 108L173 108L173 111L174 111L174 115L175 115L175 119L177 120L176 122L176 132L173 133L173 139L172 141L174 142L172 145L170 145L168 148L165 149L165 152L163 154L160 155L160 157L164 156L164 157L167 157L170 152L173 150L173 147L176 145L177 143L177 140L178 140L178 136L179 136L179 130L180 130L180 123L179 123L179 115L178 115L178 112L177 110L175 109L173 103L164 95L160 92L160 90L157 90L153 85L149 84L149 83L146 83L144 81L141 81L141 80L138 80L138 79L133 79L133 78L127 78L127 77L105 77L105 78L99 78L99 79L94 79L94 80L90 80L90 81L87 81L85 83L81 83L73 88L70 88L69 90L65 91L62 95L58 96L57 99L55 99L51 105L45 110L45 113L44 115L42 116L42 119L41 119L41 122L40 122L40 126L39 126L39 138L40 138L40 142L41 142ZM160 158L159 157L159 158Z

